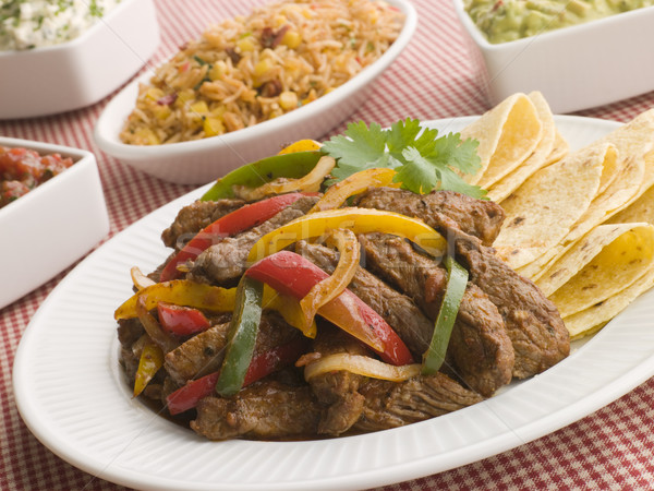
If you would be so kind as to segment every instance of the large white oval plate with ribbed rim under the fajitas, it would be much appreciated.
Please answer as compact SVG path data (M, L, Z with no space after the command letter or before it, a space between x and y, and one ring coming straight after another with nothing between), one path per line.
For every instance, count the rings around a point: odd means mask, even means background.
M472 118L433 121L457 131ZM615 122L556 117L572 147ZM654 374L654 291L569 358L491 399L376 433L304 442L206 441L131 397L118 366L113 310L130 267L168 254L159 235L205 188L137 221L84 260L40 307L19 346L14 391L32 432L71 464L140 489L362 489L482 459L565 427Z

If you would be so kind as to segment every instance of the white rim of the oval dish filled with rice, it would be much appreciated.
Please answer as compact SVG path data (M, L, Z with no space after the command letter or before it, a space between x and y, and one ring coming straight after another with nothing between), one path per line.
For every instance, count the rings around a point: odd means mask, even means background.
M300 107L293 111L287 112L278 118L268 121L262 121L251 127L243 128L242 130L232 131L221 135L210 136L206 139L168 143L160 145L130 145L120 141L119 134L113 134L110 129L116 123L116 118L120 117L122 121L129 116L120 115L121 107L119 101L125 97L128 93L134 91L138 83L148 80L154 74L154 69L146 68L146 72L141 74L137 79L130 82L123 87L110 101L107 104L101 115L96 121L94 137L100 149L107 154L117 158L138 158L148 159L159 156L161 153L167 155L184 155L190 151L203 152L210 151L217 147L231 147L232 145L239 145L247 142L252 139L264 136L272 125L279 125L280 120L286 125L292 125L293 123L301 122L306 115L313 112L319 113L323 108L327 108L332 105L338 105L348 94L352 94L358 89L364 87L367 83L374 80L375 76L382 74L384 70L397 58L404 48L409 45L417 26L417 14L415 8L410 0L383 0L392 7L401 9L404 13L404 24L397 39L392 45L372 64L364 68L356 75L348 80L342 85L336 87L328 94L318 97L306 106ZM168 58L170 59L170 57ZM167 59L167 60L168 60ZM167 61L166 60L166 61ZM164 61L164 62L166 62ZM158 67L158 65L157 65ZM132 104L133 106L133 104Z

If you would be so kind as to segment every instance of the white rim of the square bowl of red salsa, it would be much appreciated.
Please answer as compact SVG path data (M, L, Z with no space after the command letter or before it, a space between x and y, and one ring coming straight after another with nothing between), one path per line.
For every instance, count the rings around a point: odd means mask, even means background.
M17 214L21 213L21 208L28 206L28 204L23 204L27 202L32 202L34 200L38 200L43 193L49 192L49 190L57 185L57 182L61 182L59 179L62 176L72 176L74 172L78 172L82 167L87 166L97 166L95 155L92 152L88 152L83 148L76 148L72 146L64 146L59 144L38 142L35 140L25 140L25 139L16 139L10 136L0 136L0 146L7 147L22 147L38 152L39 154L61 154L64 157L73 158L73 165L65 169L64 171L58 173L57 176L48 179L46 182L37 185L36 188L29 190L26 194L20 196L15 201L12 201L7 206L0 208L0 224L4 219L3 217L9 216L9 214ZM69 173L71 171L71 173ZM65 179L62 178L62 179ZM52 184L55 183L55 184ZM45 190L45 191L44 191Z

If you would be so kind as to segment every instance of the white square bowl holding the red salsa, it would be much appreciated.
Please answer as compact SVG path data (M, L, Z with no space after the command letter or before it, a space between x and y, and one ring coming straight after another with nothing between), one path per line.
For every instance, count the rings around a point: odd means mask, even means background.
M109 216L90 152L0 137L0 146L58 153L74 164L0 208L0 309L46 283L109 232Z

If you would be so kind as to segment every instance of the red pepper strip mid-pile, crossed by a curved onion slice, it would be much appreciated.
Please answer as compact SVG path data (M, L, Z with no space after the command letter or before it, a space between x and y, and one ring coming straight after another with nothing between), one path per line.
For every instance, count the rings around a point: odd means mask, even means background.
M280 251L256 262L245 272L281 294L302 299L311 288L329 277L307 259ZM344 289L318 309L318 314L371 346L382 359L392 364L413 362L407 345L388 323L352 291Z

